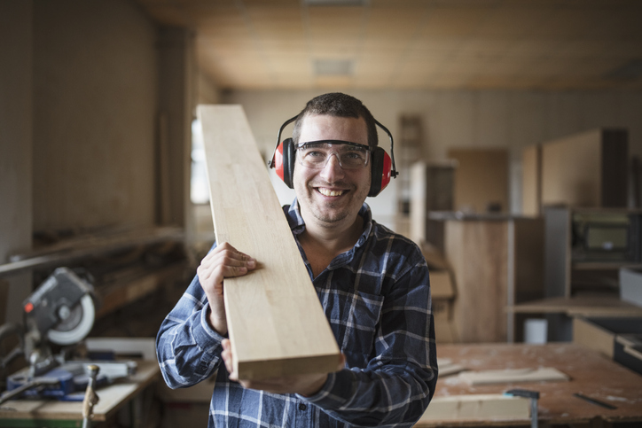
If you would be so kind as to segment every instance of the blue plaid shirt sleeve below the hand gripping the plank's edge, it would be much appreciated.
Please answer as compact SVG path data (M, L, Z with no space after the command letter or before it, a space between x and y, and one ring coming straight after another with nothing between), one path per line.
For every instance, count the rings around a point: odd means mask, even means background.
M160 325L156 356L172 388L192 386L210 377L222 362L223 336L207 323L209 303L194 276L183 296Z

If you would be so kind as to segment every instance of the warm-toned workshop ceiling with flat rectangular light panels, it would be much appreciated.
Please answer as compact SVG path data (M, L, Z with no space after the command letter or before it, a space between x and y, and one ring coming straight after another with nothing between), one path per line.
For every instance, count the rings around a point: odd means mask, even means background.
M641 0L137 1L223 89L642 89Z

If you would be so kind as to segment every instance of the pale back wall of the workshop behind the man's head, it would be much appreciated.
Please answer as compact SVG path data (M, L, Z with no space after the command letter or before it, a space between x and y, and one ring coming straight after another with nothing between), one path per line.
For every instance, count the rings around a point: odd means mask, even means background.
M416 113L423 119L430 160L445 160L451 147L504 147L511 153L511 210L521 206L521 149L590 128L629 129L630 154L642 156L642 91L544 92L517 90L346 90L397 136L398 118ZM223 101L243 105L264 158L271 156L278 127L321 91L232 91ZM288 133L291 128L287 129ZM287 134L289 135L289 134ZM388 150L380 135L382 147ZM409 174L409 171L401 171ZM275 177L279 200L294 192ZM375 218L392 225L394 183L369 198Z

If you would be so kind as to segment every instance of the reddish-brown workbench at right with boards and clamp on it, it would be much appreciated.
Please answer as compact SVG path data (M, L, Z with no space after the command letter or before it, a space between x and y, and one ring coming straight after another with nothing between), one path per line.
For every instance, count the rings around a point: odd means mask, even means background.
M470 386L457 374L440 377L435 397L467 394L504 393L512 388L538 391L538 419L542 424L587 424L642 421L642 376L588 347L573 343L546 345L475 344L440 345L441 359L461 364L467 370L503 370L553 367L570 377L569 381L512 383ZM574 393L605 402L617 409L606 409L575 397ZM419 421L417 428L435 426L529 426L519 420Z

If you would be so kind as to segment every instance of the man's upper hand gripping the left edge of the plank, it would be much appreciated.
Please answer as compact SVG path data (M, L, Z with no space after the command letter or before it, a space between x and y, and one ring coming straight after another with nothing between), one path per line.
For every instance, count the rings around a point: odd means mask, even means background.
M200 286L203 287L211 308L209 323L223 336L227 334L223 278L243 276L254 268L256 268L256 261L252 257L223 242L221 245L216 245L216 248L200 261L200 266L196 269Z

